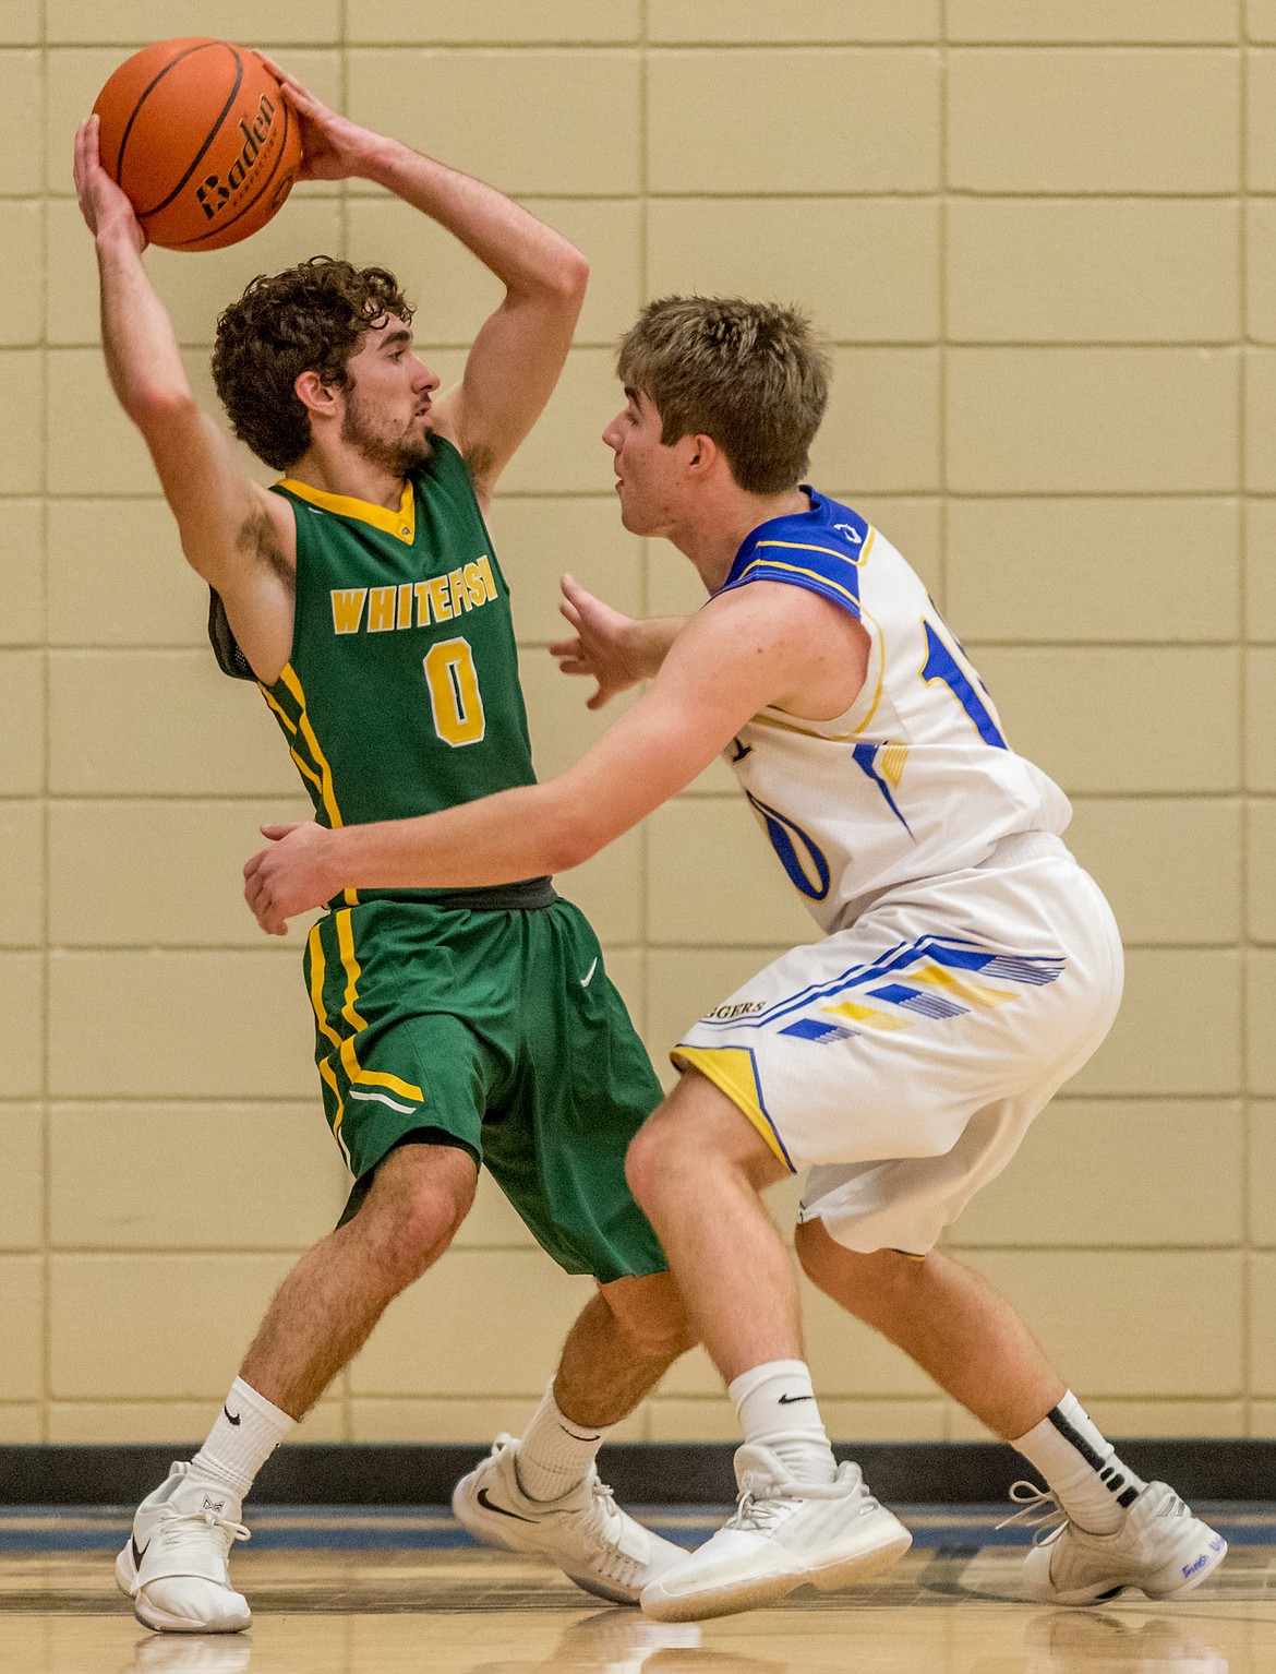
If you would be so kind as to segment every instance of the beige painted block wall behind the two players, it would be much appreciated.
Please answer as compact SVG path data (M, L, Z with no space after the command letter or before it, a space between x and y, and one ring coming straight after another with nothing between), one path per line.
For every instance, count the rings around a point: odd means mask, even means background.
M299 937L266 946L236 882L256 824L304 804L211 666L70 194L74 124L129 50L261 17L0 7L0 1440L199 1435L345 1194ZM1074 795L1129 946L1110 1041L953 1244L1102 1423L1276 1433L1276 3L281 0L268 27L323 97L590 258L493 512L542 772L600 727L545 653L559 571L630 611L697 601L615 517L617 333L669 290L814 313L836 365L818 480L913 557ZM400 203L316 184L246 244L152 256L201 392L219 306L316 249L396 266L458 373L490 276ZM813 934L721 767L564 887L666 1075L691 1016ZM794 1204L776 1192L781 1224ZM515 1428L587 1294L485 1180L303 1436ZM814 1296L808 1329L838 1435L980 1433ZM706 1358L624 1435L731 1436Z

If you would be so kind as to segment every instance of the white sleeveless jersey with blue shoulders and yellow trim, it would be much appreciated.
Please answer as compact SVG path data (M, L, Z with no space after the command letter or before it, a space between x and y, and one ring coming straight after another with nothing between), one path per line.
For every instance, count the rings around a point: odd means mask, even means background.
M980 865L1018 832L1060 835L1054 780L1005 740L992 698L921 579L858 512L811 511L749 534L721 591L809 588L860 621L868 678L831 721L763 710L727 748L744 795L824 931L915 879Z

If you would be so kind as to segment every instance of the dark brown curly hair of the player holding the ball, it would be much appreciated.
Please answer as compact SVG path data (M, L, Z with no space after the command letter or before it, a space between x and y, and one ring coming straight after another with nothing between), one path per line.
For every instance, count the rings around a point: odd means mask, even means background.
M386 268L311 256L259 273L217 320L212 382L231 427L258 459L288 470L311 442L309 413L293 385L303 372L345 388L346 363L375 320L413 310Z

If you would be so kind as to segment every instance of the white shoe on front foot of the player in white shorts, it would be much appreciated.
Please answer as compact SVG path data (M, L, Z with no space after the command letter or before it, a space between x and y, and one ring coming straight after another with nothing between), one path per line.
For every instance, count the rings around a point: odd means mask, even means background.
M791 1481L758 1443L736 1451L736 1515L642 1592L657 1622L699 1622L778 1604L798 1587L836 1592L870 1580L911 1547L903 1523L865 1487L858 1465L831 1483Z

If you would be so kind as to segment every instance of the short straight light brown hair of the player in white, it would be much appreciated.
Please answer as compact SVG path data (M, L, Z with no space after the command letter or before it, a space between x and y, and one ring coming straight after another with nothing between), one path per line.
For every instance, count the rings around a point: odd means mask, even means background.
M738 296L662 296L620 340L620 382L661 415L661 440L709 435L749 494L806 472L831 363L806 315Z

